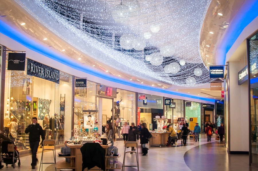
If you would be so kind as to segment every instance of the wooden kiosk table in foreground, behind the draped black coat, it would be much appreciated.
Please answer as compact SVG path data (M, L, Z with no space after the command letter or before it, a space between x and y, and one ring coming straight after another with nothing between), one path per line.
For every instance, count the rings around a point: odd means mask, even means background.
M71 148L71 156L64 156L62 158L71 158L71 160L75 160L75 166L72 167L71 163L65 162L65 160L60 160L58 162L56 162L56 168L57 169L75 169L76 171L81 171L82 170L82 154L81 154L81 147L83 145L74 145L73 143L68 144L67 146ZM110 147L110 145L101 145L101 147L103 147L105 150L107 150L108 147ZM121 156L121 155L120 155ZM120 157L119 156L119 157ZM59 157L59 156L58 156ZM108 157L108 156L106 156ZM107 160L109 161L109 160ZM106 164L107 167L107 164Z

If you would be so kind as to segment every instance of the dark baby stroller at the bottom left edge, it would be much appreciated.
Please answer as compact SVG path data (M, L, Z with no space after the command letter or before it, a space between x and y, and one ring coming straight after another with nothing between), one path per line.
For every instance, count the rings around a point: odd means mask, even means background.
M2 160L6 166L11 164L13 168L15 168L15 163L17 159L19 160L18 166L21 166L21 161L19 157L19 152L12 141L3 141L2 142Z

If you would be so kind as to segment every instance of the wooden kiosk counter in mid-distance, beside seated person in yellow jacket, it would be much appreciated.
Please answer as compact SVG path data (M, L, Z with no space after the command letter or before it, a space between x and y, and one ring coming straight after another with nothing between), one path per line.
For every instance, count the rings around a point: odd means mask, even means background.
M170 132L150 132L150 146L166 146Z

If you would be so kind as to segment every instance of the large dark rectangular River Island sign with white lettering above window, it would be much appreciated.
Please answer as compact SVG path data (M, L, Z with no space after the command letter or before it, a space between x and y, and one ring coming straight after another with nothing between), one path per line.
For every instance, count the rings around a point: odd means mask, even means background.
M31 59L27 60L27 74L59 83L59 70L46 66L42 63L38 63Z

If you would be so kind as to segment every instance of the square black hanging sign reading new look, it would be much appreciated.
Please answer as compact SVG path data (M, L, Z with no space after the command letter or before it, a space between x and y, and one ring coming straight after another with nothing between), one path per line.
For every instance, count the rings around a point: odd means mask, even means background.
M26 53L9 53L7 70L25 71Z

